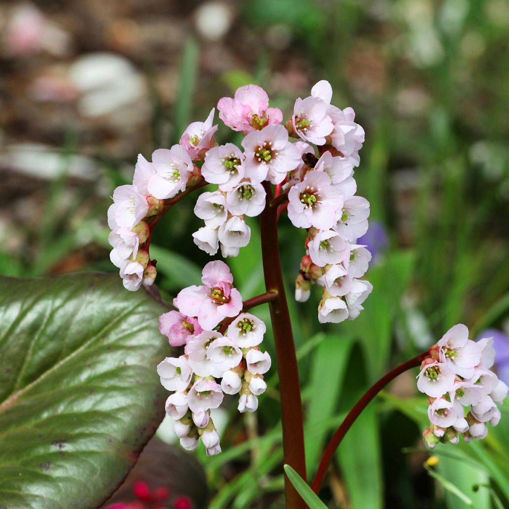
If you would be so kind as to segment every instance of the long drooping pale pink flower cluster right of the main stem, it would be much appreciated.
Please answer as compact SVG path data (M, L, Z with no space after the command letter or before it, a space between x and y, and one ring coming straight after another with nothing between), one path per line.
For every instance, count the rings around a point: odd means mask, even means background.
M318 160L309 146L302 147L306 157L288 194L290 220L308 232L295 298L305 301L313 283L323 286L318 307L321 323L356 318L373 288L370 282L358 279L365 274L371 253L355 242L366 233L370 214L369 202L355 196L353 177L364 131L353 121L351 108L342 112L330 105L331 96L330 85L320 81L310 97L295 105L295 132L320 144L325 143L323 134L327 134L330 145L321 147L328 150L321 150Z

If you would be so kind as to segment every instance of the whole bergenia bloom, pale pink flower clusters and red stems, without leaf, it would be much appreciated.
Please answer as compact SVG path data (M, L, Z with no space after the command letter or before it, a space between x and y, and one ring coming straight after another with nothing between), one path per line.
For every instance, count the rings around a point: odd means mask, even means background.
M205 122L193 122L170 149L140 155L132 185L118 187L108 211L111 261L120 269L124 287L150 286L156 262L150 241L159 219L184 196L208 184L194 212L204 225L190 238L210 256L235 257L251 236L246 216L260 216L266 293L243 300L228 265L221 260L203 268L202 285L182 289L174 309L159 319L159 330L181 355L161 359L161 384L172 393L167 414L181 445L192 450L200 439L207 455L221 452L211 417L223 395L238 395L239 412L254 412L267 384L264 374L271 358L264 351L266 326L248 313L268 303L271 312L281 396L285 463L305 478L302 405L297 360L281 267L277 224L286 213L296 228L307 232L295 298L306 301L310 287L323 287L318 303L320 323L354 320L363 309L372 285L364 274L371 260L358 242L368 226L370 204L356 194L354 168L364 130L352 108L331 104L330 84L319 81L310 96L298 98L290 118L269 107L258 86L239 88L223 97L219 118L244 137L240 146L218 146L214 109ZM295 140L294 140L295 139ZM473 342L464 325L450 329L430 350L397 367L371 387L337 430L312 484L317 492L332 455L362 409L395 376L421 364L417 387L429 398L430 427L423 436L430 447L484 438L486 423L500 419L497 403L507 386L490 371L491 340ZM466 409L467 407L467 409ZM469 408L469 410L468 410ZM468 412L467 412L468 410ZM467 413L466 413L467 412ZM305 505L286 484L287 507Z

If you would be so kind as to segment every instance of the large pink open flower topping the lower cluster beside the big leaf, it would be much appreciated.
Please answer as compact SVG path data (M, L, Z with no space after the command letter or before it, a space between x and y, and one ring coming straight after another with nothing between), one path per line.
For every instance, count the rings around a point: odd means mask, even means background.
M200 327L212 330L223 318L237 316L242 297L232 286L233 276L228 265L219 260L203 269L204 286L191 286L179 292L176 305L184 315L197 316Z

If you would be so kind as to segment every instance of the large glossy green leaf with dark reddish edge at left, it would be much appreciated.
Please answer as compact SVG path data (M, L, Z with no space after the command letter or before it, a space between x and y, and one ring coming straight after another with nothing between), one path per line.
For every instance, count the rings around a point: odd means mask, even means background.
M91 509L162 419L163 307L117 276L0 278L0 507Z

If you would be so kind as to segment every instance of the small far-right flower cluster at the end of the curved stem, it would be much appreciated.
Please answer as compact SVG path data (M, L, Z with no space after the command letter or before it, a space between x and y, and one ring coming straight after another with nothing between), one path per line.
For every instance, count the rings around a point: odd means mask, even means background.
M428 395L430 427L422 433L434 448L438 442L467 442L488 434L487 422L496 426L507 385L490 371L495 358L492 338L468 338L465 325L455 325L430 348L421 364L417 388ZM466 414L465 414L466 413Z

